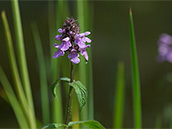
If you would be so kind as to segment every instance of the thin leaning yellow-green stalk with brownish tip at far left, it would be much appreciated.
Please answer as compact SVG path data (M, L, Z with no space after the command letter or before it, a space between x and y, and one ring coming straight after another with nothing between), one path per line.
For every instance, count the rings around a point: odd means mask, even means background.
M30 107L28 107L27 100L26 100L26 97L25 97L25 94L24 94L24 91L23 91L23 88L22 88L20 77L19 77L18 68L17 68L17 64L16 64L16 59L15 59L15 56L14 56L11 33L10 33L8 21L7 21L7 18L6 18L6 15L5 15L4 11L2 12L2 20L3 20L5 36L6 36L6 41L7 41L8 56L9 56L9 59L10 59L10 65L11 65L11 69L12 69L12 76L13 76L15 88L16 88L16 91L17 91L17 95L18 95L18 98L20 100L20 103L22 104L23 110L25 111L25 114L28 117L28 120L29 120L29 123L30 123L31 127L35 127L34 126L34 119L32 119L33 118L32 112L30 110Z

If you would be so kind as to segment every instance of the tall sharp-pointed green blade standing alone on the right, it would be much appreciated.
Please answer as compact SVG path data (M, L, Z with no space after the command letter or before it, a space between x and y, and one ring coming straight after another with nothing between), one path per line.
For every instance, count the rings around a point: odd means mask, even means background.
M136 43L135 43L134 26L133 26L131 9L130 9L130 39L131 39L132 80L133 80L134 127L137 129L141 129L142 113L141 113L140 80L139 80L139 69L138 69Z

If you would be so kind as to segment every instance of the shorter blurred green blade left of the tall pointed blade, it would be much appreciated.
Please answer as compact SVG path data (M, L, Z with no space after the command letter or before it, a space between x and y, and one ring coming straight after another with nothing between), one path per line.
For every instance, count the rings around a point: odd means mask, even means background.
M118 63L116 79L116 96L114 102L114 128L122 129L124 114L124 63Z

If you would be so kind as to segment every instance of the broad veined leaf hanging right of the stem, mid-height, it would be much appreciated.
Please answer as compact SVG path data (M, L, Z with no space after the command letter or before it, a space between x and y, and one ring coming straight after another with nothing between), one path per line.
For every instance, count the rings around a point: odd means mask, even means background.
M87 89L80 81L74 81L73 83L69 83L75 90L80 110L87 102Z

